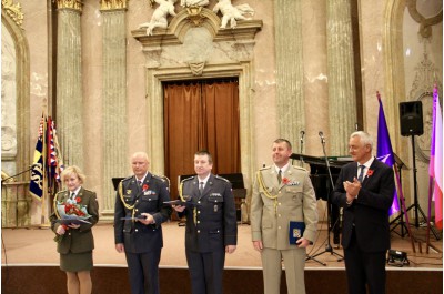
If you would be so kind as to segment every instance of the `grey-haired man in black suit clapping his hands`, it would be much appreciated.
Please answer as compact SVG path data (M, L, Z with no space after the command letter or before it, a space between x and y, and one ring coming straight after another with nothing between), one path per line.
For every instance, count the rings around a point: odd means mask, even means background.
M341 169L333 202L343 207L349 293L385 293L385 254L390 249L389 210L395 189L393 170L372 155L373 140L362 131L350 136L354 162Z

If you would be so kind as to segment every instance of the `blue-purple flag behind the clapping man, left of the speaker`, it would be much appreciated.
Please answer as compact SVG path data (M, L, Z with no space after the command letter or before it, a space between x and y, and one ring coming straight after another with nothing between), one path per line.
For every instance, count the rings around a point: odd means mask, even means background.
M389 128L385 121L384 108L382 105L380 92L376 92L377 101L380 102L380 113L377 118L377 152L376 158L379 161L384 162L393 169L395 158L393 155L392 142L390 141ZM397 201L396 189L393 193L393 203L390 207L389 215L400 211L400 203Z

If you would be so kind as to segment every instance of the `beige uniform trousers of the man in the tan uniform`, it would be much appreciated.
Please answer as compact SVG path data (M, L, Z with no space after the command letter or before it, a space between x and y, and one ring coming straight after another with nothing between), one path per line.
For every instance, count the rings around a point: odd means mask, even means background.
M264 294L280 294L282 258L284 260L286 288L289 294L305 294L305 250L262 250L261 254Z

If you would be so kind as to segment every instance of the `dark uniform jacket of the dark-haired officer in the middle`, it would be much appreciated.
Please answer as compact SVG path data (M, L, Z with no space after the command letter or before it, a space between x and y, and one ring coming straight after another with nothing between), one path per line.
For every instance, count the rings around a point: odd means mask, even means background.
M202 195L198 176L185 179L182 183L182 195L189 201L180 214L186 216L185 249L205 253L236 245L238 220L231 183L211 174Z

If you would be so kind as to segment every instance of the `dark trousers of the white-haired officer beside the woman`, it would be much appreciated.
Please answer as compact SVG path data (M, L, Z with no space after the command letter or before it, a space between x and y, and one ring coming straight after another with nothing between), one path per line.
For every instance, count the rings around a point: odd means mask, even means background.
M144 253L125 252L131 294L159 294L161 249Z

